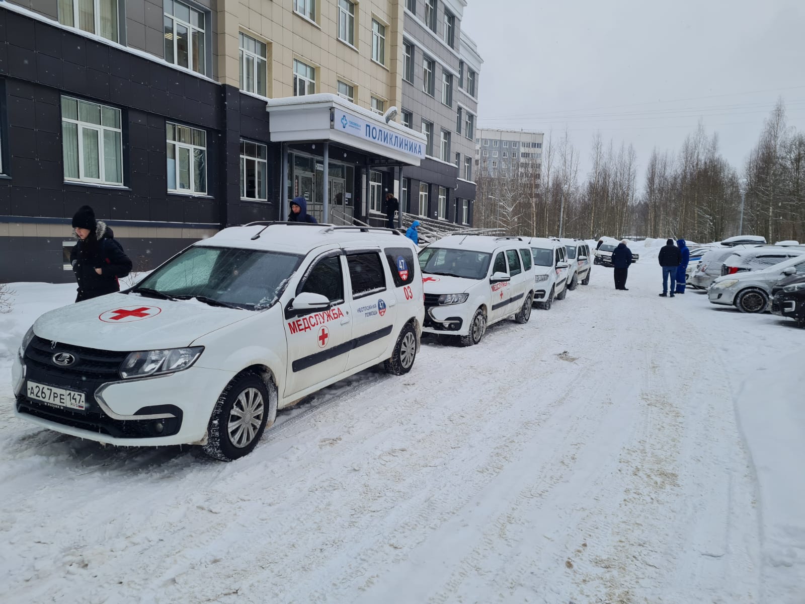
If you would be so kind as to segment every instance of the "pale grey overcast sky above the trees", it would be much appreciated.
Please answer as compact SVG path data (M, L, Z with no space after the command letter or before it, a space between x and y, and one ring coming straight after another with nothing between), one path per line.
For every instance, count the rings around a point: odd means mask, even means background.
M567 125L589 169L592 134L679 151L700 118L742 171L778 97L805 131L805 0L469 0L484 59L478 121Z

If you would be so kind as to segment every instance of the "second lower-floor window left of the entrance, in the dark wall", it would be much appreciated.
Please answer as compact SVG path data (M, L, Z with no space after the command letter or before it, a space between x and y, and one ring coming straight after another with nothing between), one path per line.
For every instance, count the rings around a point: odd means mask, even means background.
M207 192L207 133L165 122L167 130L167 190Z

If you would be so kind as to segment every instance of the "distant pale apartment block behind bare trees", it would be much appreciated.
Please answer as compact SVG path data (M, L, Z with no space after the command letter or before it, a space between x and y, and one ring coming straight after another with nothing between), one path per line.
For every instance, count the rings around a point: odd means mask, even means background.
M475 137L478 176L525 176L539 183L543 167L543 132L478 128Z

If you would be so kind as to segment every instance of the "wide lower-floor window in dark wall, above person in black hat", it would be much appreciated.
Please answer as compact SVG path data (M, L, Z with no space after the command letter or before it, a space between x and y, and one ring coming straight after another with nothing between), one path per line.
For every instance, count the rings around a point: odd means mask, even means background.
M64 180L123 184L120 110L61 97Z

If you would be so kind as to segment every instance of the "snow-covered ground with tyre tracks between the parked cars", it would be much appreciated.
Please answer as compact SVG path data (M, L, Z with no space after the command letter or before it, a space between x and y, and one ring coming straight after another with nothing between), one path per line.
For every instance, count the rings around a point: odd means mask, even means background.
M662 242L660 242L662 245ZM0 315L0 602L805 602L805 331L658 298L658 247L280 412L250 456L14 418ZM81 329L76 325L76 329Z

